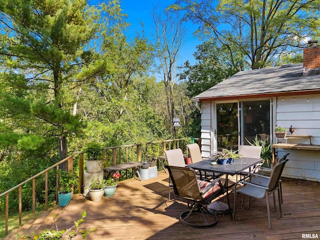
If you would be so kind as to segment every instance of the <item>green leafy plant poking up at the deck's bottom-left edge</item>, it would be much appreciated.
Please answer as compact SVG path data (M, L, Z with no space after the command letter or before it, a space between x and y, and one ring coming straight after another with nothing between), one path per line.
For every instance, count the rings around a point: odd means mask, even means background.
M84 217L86 216L86 212L82 212L81 219L78 219L77 221L74 221L74 225L71 226L68 229L64 230L58 230L58 226L56 224L55 218L54 224L56 227L56 230L49 230L45 229L44 231L34 235L34 236L18 236L17 239L33 239L33 240L62 240L62 239L71 239L73 236L75 236L77 233L82 235L82 238L86 237L87 233L94 232L96 230L96 227L94 228L87 228L87 230L79 230L79 225L81 222L84 222ZM76 230L71 231L75 227ZM65 236L68 233L67 237Z

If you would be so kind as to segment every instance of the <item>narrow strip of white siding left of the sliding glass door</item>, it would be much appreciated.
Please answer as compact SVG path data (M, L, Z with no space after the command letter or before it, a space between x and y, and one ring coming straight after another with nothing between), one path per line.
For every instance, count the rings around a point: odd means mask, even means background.
M201 104L201 155L211 154L211 107L210 102Z

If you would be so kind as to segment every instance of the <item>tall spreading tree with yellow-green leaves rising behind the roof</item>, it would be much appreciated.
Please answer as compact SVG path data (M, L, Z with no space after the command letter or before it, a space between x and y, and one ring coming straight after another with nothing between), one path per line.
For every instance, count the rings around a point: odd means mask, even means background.
M238 71L275 65L279 55L304 47L306 37L319 37L319 0L178 0L177 3L188 19L200 24L199 32L228 49L228 58ZM243 55L245 65L235 64L238 52Z

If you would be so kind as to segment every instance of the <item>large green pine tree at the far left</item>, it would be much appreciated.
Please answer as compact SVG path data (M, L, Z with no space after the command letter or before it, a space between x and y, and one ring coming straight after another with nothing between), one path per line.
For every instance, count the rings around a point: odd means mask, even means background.
M63 159L67 136L85 126L72 114L78 86L108 66L88 45L99 11L85 0L2 0L0 14L1 114L25 148L57 137Z

